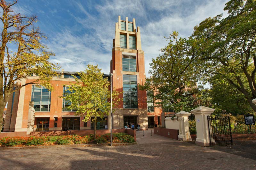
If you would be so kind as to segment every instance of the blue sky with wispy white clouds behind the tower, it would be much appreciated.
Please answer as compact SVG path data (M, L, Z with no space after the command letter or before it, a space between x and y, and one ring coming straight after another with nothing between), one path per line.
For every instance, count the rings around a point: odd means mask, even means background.
M9 1L12 2L12 1ZM19 0L15 12L37 15L37 26L46 34L44 43L56 55L51 62L65 71L84 71L87 64L98 64L110 72L115 23L136 19L140 26L141 46L145 52L147 77L149 63L160 54L172 31L187 37L193 27L223 11L226 0Z

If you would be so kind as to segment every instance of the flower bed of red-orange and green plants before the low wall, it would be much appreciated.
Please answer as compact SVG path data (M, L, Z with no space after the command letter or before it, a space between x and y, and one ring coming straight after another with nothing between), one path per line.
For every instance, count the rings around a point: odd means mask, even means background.
M126 133L113 134L113 143L133 143L134 138ZM93 135L79 136L47 136L47 137L3 137L0 138L0 146L42 146L42 145L63 145L63 144L105 144L110 143L110 134L96 136Z

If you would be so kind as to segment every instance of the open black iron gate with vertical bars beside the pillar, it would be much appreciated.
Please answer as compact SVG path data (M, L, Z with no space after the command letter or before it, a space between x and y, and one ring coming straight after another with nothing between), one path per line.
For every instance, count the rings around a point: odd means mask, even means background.
M232 134L229 116L213 117L207 116L210 145L227 146L232 145Z

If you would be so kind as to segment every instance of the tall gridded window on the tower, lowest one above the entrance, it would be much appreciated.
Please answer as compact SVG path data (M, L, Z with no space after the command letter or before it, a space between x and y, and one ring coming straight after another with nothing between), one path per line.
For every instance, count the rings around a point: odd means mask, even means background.
M123 74L124 108L138 108L137 76Z

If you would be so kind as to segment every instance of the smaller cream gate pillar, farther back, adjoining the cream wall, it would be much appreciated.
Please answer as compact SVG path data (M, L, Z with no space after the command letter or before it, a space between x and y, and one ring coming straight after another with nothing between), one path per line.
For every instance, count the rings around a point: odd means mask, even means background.
M192 141L190 133L189 133L189 125L188 125L188 116L191 113L180 111L176 113L175 116L179 117L179 136L178 140L181 141Z

